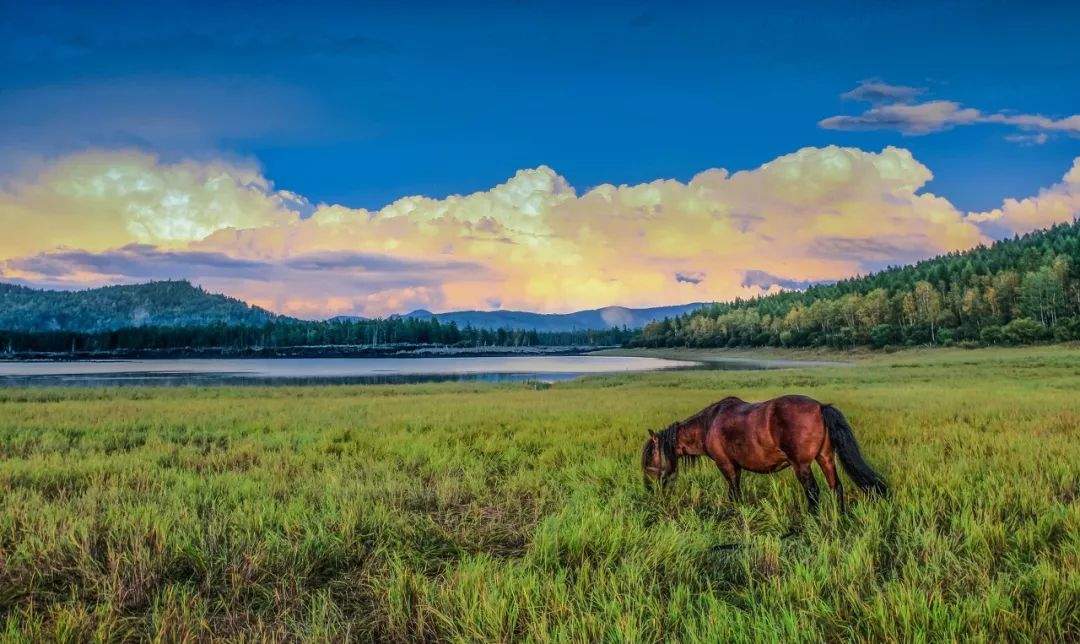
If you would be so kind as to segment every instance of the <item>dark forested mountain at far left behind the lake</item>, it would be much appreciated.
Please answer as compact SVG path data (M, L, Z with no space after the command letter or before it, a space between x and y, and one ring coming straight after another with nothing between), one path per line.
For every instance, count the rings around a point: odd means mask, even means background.
M132 326L260 325L275 316L186 281L43 291L0 283L0 328L96 333Z

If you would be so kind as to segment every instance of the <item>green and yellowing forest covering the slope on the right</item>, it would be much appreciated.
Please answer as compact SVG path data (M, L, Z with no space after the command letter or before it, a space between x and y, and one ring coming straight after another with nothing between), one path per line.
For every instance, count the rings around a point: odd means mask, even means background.
M646 325L633 347L1024 345L1080 339L1080 222Z

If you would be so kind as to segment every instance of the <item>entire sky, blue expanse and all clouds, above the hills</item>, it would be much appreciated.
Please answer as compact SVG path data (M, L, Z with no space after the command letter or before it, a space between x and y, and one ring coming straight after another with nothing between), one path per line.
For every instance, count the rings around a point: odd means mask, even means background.
M0 280L752 296L1080 214L1080 5L0 0Z

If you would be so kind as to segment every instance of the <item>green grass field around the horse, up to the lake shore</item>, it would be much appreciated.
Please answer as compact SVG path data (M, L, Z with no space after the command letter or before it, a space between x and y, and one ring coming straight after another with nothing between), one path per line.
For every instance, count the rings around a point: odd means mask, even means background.
M0 639L1077 641L1078 391L1075 347L0 390ZM784 471L732 507L704 464L643 488L647 428L785 392L842 410L894 495L810 519Z

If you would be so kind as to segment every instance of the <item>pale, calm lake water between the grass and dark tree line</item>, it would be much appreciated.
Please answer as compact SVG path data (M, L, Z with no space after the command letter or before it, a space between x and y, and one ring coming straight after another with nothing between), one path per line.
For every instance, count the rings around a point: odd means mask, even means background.
M567 380L588 374L701 366L609 355L314 358L0 362L0 386L306 385L440 380Z

